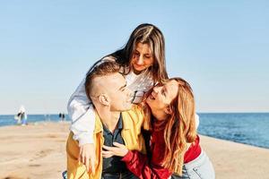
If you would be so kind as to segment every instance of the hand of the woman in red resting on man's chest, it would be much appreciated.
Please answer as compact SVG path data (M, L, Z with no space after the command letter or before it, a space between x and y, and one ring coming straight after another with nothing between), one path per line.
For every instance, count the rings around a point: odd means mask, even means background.
M126 154L128 153L128 149L126 148L125 145L117 143L117 142L113 142L113 145L116 147L108 147L108 146L103 146L102 150L102 156L104 158L111 158L112 156L119 156L119 157L125 157Z

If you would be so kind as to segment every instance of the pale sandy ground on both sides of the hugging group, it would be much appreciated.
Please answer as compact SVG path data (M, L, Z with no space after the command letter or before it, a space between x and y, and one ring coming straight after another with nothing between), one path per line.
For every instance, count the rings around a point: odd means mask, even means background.
M0 178L62 178L68 123L0 127ZM269 178L269 149L201 136L216 178Z

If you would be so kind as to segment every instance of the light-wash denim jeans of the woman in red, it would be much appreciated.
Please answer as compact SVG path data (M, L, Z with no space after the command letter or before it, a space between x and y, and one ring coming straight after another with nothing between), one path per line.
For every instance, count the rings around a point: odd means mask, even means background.
M184 164L182 175L172 175L171 179L214 179L213 164L202 150L198 158Z

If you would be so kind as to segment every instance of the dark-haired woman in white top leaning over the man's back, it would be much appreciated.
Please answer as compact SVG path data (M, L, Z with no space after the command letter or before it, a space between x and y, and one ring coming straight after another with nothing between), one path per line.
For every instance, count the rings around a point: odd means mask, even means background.
M105 43L105 42L104 42ZM168 78L165 67L164 37L156 26L143 23L137 26L128 39L126 46L106 55L93 64L91 69L104 61L116 61L126 76L127 87L134 91L134 103L140 103L143 94L152 89L156 82ZM91 70L89 71L91 72ZM69 99L67 109L72 119L70 130L74 140L79 141L80 160L86 167L94 170L94 146L92 133L95 114L85 92L85 80Z

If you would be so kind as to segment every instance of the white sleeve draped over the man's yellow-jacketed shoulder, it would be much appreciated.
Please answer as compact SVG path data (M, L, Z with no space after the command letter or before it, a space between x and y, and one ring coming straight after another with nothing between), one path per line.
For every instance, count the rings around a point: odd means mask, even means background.
M73 139L79 141L82 146L86 143L93 143L93 130L95 124L95 113L91 101L85 92L85 80L81 82L74 94L68 101L67 110L71 117L70 130L74 132Z

